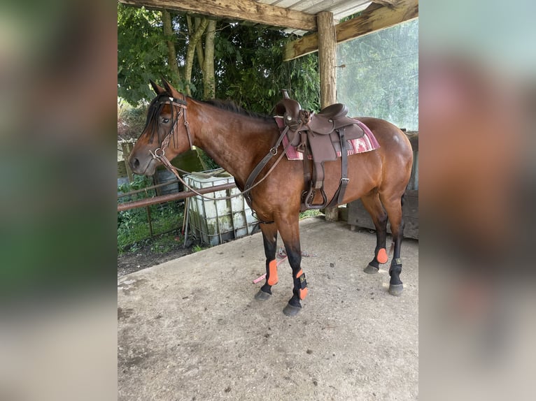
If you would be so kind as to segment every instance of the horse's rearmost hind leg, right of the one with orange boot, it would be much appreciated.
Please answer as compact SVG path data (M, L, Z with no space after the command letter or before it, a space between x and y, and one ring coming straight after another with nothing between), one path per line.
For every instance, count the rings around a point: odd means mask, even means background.
M389 199L382 198L383 206L386 208L387 215L391 224L391 233L395 245L393 259L389 268L390 282L389 293L393 296L402 294L402 281L400 273L402 272L402 259L400 258L400 247L404 235L404 221L402 221L402 196L393 196Z

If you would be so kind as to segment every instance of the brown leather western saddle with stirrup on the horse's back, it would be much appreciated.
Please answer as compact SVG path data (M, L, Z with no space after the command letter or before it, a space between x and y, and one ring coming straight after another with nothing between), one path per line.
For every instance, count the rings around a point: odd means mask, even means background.
M341 203L348 185L348 140L361 138L365 133L357 120L347 117L348 107L335 103L315 113L302 110L302 106L290 99L285 89L283 99L276 104L275 114L283 117L288 126L290 145L304 154L304 180L306 188L302 194L302 210L321 209ZM312 155L313 169L311 175ZM340 156L339 156L340 155ZM339 189L328 203L324 191L324 162L341 157L341 180ZM320 191L322 203L313 203L316 191Z

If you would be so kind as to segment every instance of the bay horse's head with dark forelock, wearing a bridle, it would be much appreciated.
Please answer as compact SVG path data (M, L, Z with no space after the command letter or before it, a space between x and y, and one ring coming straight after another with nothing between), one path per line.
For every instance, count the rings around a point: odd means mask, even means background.
M129 156L129 165L136 174L153 175L161 163L160 156L169 160L192 146L186 123L186 98L163 80L164 87L150 81L156 93L147 113L145 128Z

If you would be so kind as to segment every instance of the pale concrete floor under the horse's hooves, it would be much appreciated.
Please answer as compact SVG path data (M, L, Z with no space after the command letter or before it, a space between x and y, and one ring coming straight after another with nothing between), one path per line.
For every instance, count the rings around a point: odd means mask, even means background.
M118 400L416 400L418 242L402 245L404 293L388 264L362 271L374 233L321 217L300 223L309 284L283 314L290 266L270 300L260 233L118 280ZM388 239L388 245L390 239Z

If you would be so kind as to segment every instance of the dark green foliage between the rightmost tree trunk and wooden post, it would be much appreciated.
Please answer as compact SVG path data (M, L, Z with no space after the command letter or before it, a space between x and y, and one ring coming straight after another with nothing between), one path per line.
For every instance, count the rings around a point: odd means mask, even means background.
M231 24L216 40L216 96L246 110L269 114L288 89L302 107L318 110L318 57L283 62L288 34L259 25Z

